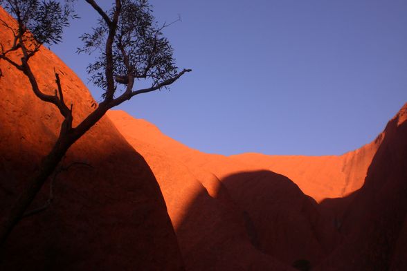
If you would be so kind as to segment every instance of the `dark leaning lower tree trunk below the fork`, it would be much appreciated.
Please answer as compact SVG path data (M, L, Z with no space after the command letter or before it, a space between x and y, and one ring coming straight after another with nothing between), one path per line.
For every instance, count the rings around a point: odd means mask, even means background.
M6 243L12 229L19 223L26 209L33 202L39 190L42 188L48 176L51 176L58 163L64 157L66 151L75 142L75 140L64 140L59 138L50 153L42 159L39 170L35 172L33 178L30 178L27 186L21 191L17 202L6 214L0 225L0 247Z

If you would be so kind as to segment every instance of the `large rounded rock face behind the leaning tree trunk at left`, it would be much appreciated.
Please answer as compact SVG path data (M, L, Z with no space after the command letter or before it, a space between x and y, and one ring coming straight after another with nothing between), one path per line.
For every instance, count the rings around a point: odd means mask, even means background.
M0 18L12 24L0 9ZM0 43L10 43L0 26ZM15 56L17 59L17 55ZM53 93L60 73L74 125L91 112L84 84L46 48L30 59L39 86ZM51 149L62 118L22 73L0 61L0 215ZM103 118L66 154L46 211L24 218L0 251L0 270L182 270L163 196L147 163ZM49 182L30 209L44 205Z

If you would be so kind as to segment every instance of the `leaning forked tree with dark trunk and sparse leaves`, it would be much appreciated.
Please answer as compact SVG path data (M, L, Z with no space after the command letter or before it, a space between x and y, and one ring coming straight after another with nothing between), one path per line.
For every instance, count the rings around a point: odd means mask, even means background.
M89 64L87 72L93 84L102 89L102 102L87 118L73 127L73 104L67 105L62 93L60 75L55 73L56 90L48 95L39 88L30 59L43 44L57 44L62 32L75 18L74 1L66 0L62 5L55 0L0 0L0 4L15 17L16 26L2 23L12 32L14 40L10 48L0 46L0 60L5 60L24 73L35 95L42 101L54 104L64 117L60 134L40 164L39 169L28 180L15 205L0 224L0 245L6 241L12 229L21 220L49 176L53 174L69 147L84 135L107 110L130 100L132 97L167 88L190 69L179 72L175 66L173 50L168 39L163 37L164 24L158 27L147 0L115 0L112 8L105 12L94 0L85 0L98 12L98 26L91 33L82 35L84 42L78 53L98 53L96 62ZM15 62L12 54L21 55ZM138 81L150 87L134 90ZM145 83L144 83L145 84Z

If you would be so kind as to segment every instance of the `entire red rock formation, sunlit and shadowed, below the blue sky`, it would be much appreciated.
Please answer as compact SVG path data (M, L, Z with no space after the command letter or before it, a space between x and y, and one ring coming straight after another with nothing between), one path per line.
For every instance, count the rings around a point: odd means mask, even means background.
M3 10L0 17L10 21ZM60 59L42 48L31 62L47 93L53 68L60 73L74 124L91 111L93 98ZM14 68L0 69L7 209L51 149L61 118ZM210 155L122 111L108 115L114 124L102 119L62 162L91 167L57 174L52 205L12 232L0 270L180 270L183 261L187 270L407 269L407 105L374 142L323 157ZM48 182L31 209L49 191Z

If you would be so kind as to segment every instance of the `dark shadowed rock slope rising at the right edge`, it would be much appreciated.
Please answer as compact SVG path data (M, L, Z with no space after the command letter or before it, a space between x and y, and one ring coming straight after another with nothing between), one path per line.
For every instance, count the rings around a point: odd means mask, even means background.
M363 187L345 208L346 239L318 270L407 270L407 104L388 122Z

